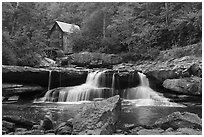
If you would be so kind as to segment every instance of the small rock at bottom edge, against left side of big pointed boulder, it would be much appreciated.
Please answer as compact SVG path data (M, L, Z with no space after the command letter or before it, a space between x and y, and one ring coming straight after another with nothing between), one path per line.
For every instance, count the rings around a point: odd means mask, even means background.
M67 122L61 123L56 129L55 134L56 135L71 135L73 132L73 124L72 120L70 119Z

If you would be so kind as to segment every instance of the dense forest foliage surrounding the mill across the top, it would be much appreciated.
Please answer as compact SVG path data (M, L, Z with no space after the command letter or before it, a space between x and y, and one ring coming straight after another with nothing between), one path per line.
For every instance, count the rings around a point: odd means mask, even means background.
M55 21L79 25L75 52L114 53L124 61L201 42L201 2L3 2L3 64L35 66Z

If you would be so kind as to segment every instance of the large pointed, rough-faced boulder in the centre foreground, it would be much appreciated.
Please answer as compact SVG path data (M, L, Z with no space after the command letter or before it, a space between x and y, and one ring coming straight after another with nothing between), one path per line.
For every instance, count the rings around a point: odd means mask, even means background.
M77 135L111 135L121 109L119 95L103 101L86 104L73 120Z

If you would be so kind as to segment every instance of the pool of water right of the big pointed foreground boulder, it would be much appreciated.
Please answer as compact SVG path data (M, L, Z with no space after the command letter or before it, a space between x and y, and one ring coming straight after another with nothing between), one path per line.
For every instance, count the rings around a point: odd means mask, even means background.
M165 117L176 111L192 112L202 118L201 105L184 106L182 104L171 102L152 104L151 101L145 104L144 101L136 101L123 104L122 112L119 118L119 125L152 125L159 118Z

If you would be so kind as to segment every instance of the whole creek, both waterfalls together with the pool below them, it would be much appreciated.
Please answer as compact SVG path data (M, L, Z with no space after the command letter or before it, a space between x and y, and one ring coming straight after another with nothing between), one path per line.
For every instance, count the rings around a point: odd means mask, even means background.
M107 79L104 74L105 71L90 72L84 84L49 90L44 97L33 102L3 103L2 115L21 116L39 123L47 112L51 112L54 125L58 125L73 118L83 107L83 103L119 94L122 98L122 112L118 128L125 124L151 125L157 119L175 111L192 112L202 117L201 99L195 99L196 102L191 99L192 101L182 100L176 103L163 93L150 88L148 78L140 72L137 72L139 85L134 84L135 77L131 75L129 87L120 90L115 88L118 85L115 73L111 79ZM49 89L50 84L48 85Z

